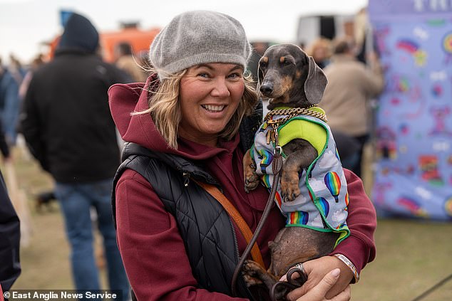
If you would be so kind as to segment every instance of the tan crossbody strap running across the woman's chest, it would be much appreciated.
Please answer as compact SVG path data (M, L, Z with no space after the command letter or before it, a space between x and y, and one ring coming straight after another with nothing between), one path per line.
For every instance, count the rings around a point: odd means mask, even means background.
M226 198L226 196L222 194L221 191L213 185L202 183L200 181L196 181L196 183L203 189L205 189L205 191L207 191L217 201L219 201L220 204L222 204L223 208L225 208L229 216L235 221L237 227L239 227L239 230L242 233L242 236L245 238L245 241L247 241L247 243L250 243L252 238L252 232L250 227L242 218L239 211L237 211L237 209ZM262 259L262 254L260 253L260 249L257 246L257 243L255 243L255 245L252 246L250 253L252 260L254 260L256 263L259 263L262 266L262 268L265 268L264 260Z

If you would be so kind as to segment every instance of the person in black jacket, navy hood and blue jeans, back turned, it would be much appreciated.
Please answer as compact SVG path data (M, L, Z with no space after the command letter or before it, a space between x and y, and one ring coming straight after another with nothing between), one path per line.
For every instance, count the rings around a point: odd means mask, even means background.
M116 244L110 202L120 152L107 91L115 83L131 80L96 54L98 46L98 31L91 21L71 14L55 57L31 78L21 130L31 154L56 182L76 289L101 288L93 253L94 208L110 288L123 290L126 298L128 279Z

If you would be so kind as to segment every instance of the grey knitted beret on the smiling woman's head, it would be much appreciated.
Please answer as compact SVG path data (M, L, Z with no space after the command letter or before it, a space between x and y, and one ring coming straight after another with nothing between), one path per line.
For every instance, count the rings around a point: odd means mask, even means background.
M239 21L215 11L188 11L170 21L150 45L160 78L201 63L247 67L251 46ZM162 73L165 73L162 74Z

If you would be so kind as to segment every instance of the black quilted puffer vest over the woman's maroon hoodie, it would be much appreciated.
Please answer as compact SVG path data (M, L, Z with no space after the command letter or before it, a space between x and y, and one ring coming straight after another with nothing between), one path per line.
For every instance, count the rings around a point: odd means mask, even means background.
M218 186L217 181L182 157L127 143L123 164L113 182L114 218L115 187L125 169L133 169L147 179L165 209L175 217L193 276L200 287L231 295L232 275L240 260L235 228L222 205L190 179ZM252 298L242 278L237 289L240 297Z

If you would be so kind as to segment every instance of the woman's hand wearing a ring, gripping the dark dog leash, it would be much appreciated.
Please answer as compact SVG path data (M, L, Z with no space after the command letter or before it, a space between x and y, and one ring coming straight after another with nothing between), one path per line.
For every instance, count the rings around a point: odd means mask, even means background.
M332 297L338 295L341 292L346 290L346 287L349 286L351 280L353 279L353 273L350 268L343 263L339 258L335 256L323 256L321 258L317 258L314 260L309 260L303 263L304 271L307 273L307 282L292 292L287 294L287 300L297 300L297 298L302 297L304 295L308 295L314 288L319 285L320 282L324 281L324 279L329 275L329 272L339 268L340 274L339 278L334 280L334 283L324 292L324 297L327 299L319 299L319 300L335 300ZM294 273L292 278L296 278L298 273ZM281 280L284 280L285 275ZM318 290L318 289L316 289ZM350 290L348 290L348 295L350 295ZM302 299L308 300L308 299ZM313 299L317 301L317 299ZM339 299L342 300L342 299ZM348 299L344 299L348 300Z

